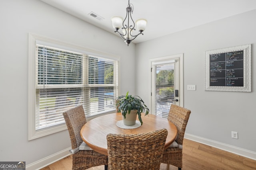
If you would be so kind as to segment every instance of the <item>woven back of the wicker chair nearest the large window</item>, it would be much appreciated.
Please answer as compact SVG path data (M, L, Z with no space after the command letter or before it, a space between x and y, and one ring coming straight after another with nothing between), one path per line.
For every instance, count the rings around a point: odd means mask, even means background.
M72 149L76 149L83 142L80 131L86 123L84 108L82 105L64 111L63 113L71 140Z

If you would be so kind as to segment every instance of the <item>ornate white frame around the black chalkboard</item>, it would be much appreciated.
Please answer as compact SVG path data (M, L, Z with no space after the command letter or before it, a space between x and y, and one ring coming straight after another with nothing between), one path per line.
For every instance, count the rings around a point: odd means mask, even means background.
M251 71L251 44L216 49L205 52L205 84L204 90L208 91L229 91L229 92L252 92L252 71ZM244 51L244 86L210 86L210 55Z

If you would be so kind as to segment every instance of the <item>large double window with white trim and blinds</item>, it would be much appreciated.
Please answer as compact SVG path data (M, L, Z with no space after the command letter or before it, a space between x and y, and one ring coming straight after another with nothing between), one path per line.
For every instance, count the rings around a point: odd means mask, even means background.
M62 113L80 104L87 119L115 111L119 57L29 37L29 140L66 129Z

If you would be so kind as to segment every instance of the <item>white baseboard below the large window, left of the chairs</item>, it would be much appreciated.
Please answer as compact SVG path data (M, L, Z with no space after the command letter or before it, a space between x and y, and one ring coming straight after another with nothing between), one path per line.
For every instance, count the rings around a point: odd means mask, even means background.
M26 170L39 170L41 168L44 168L45 166L48 166L58 160L61 160L62 158L67 157L70 155L69 150L71 147L64 149L60 152L57 152L55 154L52 154L50 156L47 156L46 158L42 158L41 160L38 160L36 162L33 162L32 164L26 165Z

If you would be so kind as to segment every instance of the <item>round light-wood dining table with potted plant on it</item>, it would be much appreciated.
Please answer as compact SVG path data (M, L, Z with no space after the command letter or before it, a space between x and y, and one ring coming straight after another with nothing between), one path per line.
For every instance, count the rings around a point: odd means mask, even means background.
M82 140L93 150L101 154L108 155L108 146L106 136L109 133L115 134L137 134L155 131L165 128L168 131L164 149L168 148L177 137L176 126L156 115L142 114L143 125L136 129L122 129L116 126L116 122L122 120L121 113L112 113L102 115L88 121L81 129Z

